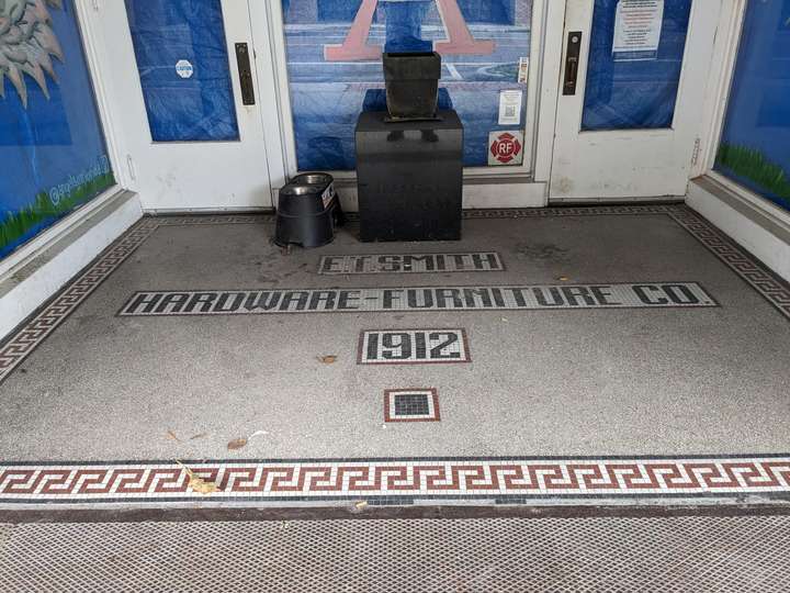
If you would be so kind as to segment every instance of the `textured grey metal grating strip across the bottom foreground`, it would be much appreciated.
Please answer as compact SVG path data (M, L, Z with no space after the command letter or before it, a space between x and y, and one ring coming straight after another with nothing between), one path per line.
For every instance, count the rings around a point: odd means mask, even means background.
M0 525L0 591L788 591L790 517Z

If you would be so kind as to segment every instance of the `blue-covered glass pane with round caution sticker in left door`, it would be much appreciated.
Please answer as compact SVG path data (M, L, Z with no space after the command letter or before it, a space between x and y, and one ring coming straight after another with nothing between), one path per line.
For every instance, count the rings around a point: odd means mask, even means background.
M126 12L154 142L238 139L219 0L126 0Z

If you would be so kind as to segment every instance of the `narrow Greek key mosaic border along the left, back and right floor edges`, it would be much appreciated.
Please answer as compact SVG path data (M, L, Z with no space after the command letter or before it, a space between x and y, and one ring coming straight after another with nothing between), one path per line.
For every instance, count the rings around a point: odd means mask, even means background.
M679 205L618 205L585 208L549 208L541 210L477 210L464 213L466 219L548 219L557 216L655 215L670 216L700 244L713 253L737 276L759 292L790 320L790 287L771 273L745 249L725 237L691 209ZM48 304L0 345L0 382L54 332L126 258L157 228L213 224L260 224L272 222L270 215L162 216L145 217L136 223L88 268L59 292Z

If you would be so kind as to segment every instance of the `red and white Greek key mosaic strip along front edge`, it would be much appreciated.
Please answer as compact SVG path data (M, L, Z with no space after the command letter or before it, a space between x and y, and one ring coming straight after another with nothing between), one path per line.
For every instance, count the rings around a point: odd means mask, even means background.
M195 492L190 474L211 482ZM632 459L388 459L0 466L0 504L569 497L788 500L790 456Z

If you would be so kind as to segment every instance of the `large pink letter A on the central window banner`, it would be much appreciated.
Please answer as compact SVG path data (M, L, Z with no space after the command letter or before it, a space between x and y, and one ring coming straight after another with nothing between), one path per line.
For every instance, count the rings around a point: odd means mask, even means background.
M435 49L440 54L490 55L496 44L490 40L475 40L466 25L458 0L436 0L447 31L447 41L436 42ZM370 45L370 30L373 26L379 0L362 0L351 30L341 45L325 45L324 58L327 61L362 61L379 59L381 45Z

